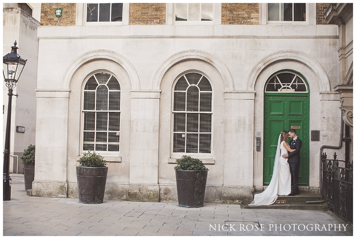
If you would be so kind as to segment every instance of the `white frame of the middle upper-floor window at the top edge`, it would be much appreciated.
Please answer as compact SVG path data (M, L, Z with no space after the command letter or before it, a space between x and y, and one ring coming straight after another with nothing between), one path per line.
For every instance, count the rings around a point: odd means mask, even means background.
M166 25L221 25L221 3L213 4L213 21L176 21L174 3L167 3L166 9Z

